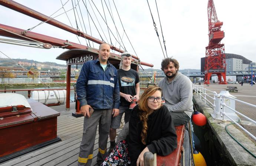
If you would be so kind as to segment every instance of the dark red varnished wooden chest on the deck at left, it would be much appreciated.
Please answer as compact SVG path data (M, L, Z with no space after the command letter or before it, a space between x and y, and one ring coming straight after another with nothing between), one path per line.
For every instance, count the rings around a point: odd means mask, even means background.
M1 109L0 163L60 141L57 137L59 112L27 99L30 108L18 111L19 115ZM8 115L8 116L7 116Z

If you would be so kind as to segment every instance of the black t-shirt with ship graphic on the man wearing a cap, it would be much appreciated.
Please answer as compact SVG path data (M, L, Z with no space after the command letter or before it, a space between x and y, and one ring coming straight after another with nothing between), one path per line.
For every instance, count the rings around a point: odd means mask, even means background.
M117 72L120 92L132 96L136 95L135 85L140 82L138 72L133 69L128 71L119 69ZM120 106L129 106L131 104L123 97L120 97L120 102Z

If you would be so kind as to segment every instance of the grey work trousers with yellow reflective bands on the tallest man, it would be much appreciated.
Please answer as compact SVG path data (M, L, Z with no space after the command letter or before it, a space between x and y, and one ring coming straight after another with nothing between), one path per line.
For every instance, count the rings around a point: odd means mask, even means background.
M91 166L93 148L99 123L99 148L97 164L100 165L107 157L106 148L111 124L112 109L95 109L90 118L83 121L83 138L78 156L78 166Z

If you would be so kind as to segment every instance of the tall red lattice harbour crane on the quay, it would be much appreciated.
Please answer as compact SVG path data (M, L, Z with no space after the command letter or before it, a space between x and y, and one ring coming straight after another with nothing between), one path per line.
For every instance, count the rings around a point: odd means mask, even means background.
M208 28L209 45L206 47L205 66L204 66L204 84L209 84L212 74L217 74L220 84L226 83L226 57L224 44L220 41L224 38L224 31L220 28L223 22L217 18L213 0L208 0ZM221 80L223 77L223 81Z

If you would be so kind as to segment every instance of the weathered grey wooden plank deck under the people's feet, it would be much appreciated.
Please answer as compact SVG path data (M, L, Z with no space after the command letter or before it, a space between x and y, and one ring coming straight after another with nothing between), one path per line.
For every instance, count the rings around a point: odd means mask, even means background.
M51 106L50 108L60 112L58 116L57 135L62 141L45 148L36 150L26 155L9 160L0 164L1 166L77 166L79 146L82 141L83 117L75 118L75 103L70 103L70 111L65 111L65 105ZM124 123L124 119L122 119ZM119 133L121 129L117 131ZM95 145L93 150L92 166L96 165L98 153L98 129L96 133ZM19 139L19 138L17 138ZM109 149L109 140L108 146ZM107 149L107 150L108 150Z

